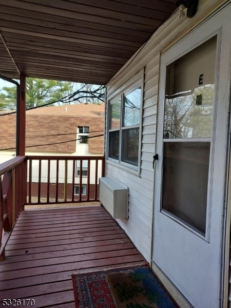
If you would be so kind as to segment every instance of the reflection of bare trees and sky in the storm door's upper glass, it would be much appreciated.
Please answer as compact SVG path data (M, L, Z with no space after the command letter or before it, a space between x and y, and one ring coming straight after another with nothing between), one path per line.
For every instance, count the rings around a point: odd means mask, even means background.
M190 95L166 97L164 138L211 137L213 104L213 84L198 87Z

